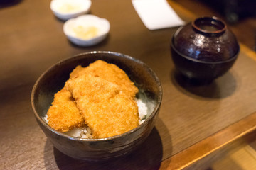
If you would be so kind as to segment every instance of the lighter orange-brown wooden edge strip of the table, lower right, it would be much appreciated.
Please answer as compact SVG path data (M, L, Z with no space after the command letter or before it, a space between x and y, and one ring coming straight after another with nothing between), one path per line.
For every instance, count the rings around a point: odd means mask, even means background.
M165 159L161 162L161 169L184 169L255 130L256 112Z

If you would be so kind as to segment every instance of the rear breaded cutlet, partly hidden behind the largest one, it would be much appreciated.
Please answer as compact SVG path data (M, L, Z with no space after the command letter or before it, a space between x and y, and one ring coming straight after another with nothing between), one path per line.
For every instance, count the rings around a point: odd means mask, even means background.
M83 74L92 74L94 77L100 77L101 79L117 84L122 88L124 93L132 97L135 97L139 91L137 86L134 86L134 83L122 69L115 64L109 64L102 60L97 60L88 67L77 66L73 72L71 72L70 78L79 77Z

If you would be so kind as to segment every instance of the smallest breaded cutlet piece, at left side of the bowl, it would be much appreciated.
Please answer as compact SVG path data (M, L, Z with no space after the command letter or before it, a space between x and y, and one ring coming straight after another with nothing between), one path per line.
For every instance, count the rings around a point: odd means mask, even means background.
M60 132L67 132L73 128L85 125L85 120L75 104L70 91L65 88L54 95L52 106L48 113L48 125Z

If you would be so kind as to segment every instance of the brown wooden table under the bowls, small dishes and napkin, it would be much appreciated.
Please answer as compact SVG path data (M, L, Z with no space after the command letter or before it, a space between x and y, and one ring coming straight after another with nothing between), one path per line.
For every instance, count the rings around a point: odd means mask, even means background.
M169 1L185 21L196 16ZM130 0L93 0L91 13L110 21L99 45L77 47L63 33L50 0L0 6L0 169L182 169L203 167L230 145L253 139L256 129L256 55L240 44L237 62L212 84L179 77L169 42L177 28L148 30ZM149 65L164 96L155 128L141 148L109 162L80 162L53 147L36 123L31 89L59 60L81 52L122 52ZM249 137L249 138L247 138Z

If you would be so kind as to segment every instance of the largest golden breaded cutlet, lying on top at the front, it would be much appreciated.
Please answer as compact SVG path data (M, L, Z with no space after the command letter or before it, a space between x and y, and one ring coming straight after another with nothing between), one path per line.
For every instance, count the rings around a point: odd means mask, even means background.
M69 79L65 86L75 98L94 138L119 135L139 124L137 103L117 84L85 74Z

